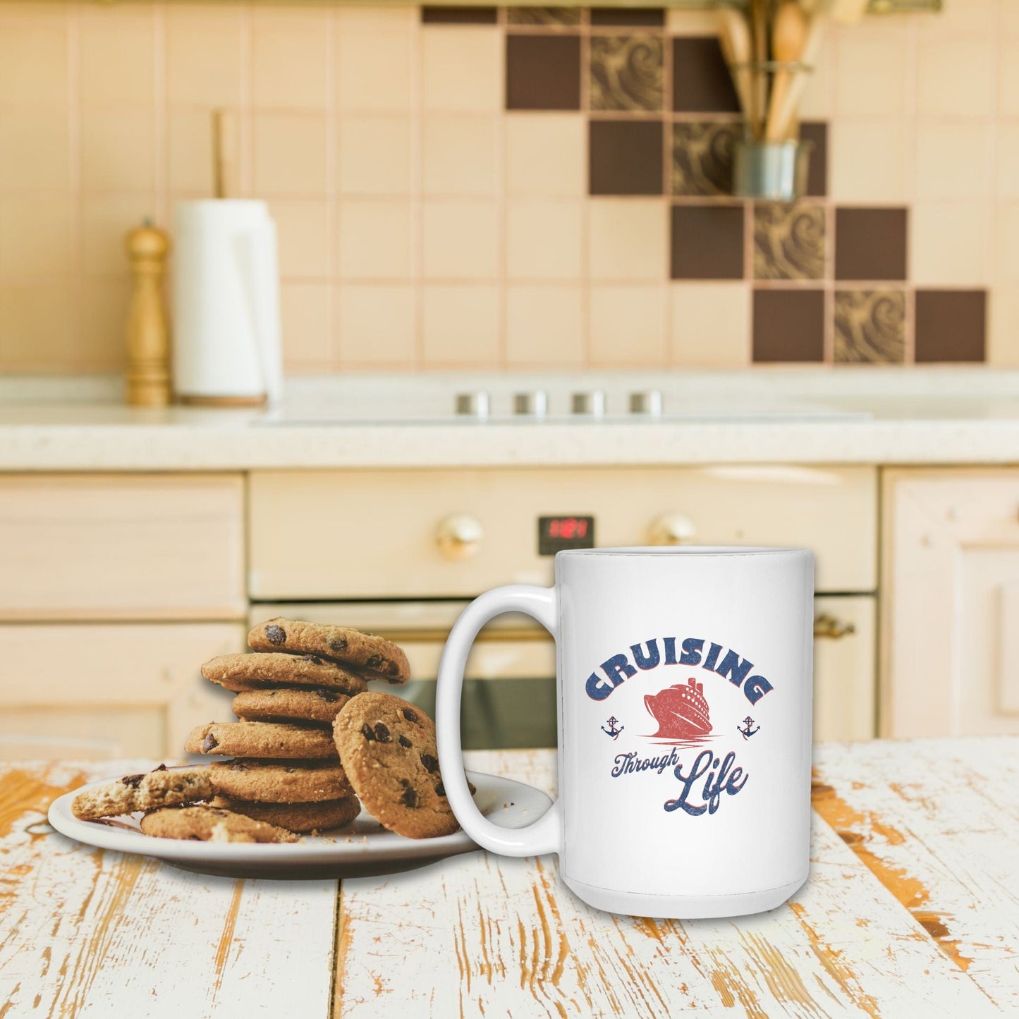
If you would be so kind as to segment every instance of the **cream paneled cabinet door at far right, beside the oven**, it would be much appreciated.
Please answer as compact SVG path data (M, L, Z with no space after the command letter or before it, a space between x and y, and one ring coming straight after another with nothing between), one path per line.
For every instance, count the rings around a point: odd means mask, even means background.
M881 735L1019 733L1019 471L884 481Z

